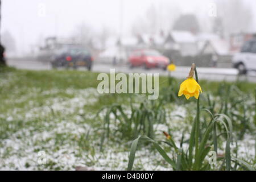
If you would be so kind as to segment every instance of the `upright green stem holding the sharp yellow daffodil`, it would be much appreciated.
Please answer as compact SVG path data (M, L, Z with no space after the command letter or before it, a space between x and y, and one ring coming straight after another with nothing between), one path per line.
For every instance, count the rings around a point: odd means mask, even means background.
M197 76L197 71L196 71L196 67L195 67L195 76L196 76L196 81L197 83L199 83L198 81L198 76ZM195 150L196 150L196 155L198 155L198 146L199 146L199 131L200 131L200 125L199 125L199 118L200 118L200 96L197 99L196 102L196 129L195 129Z

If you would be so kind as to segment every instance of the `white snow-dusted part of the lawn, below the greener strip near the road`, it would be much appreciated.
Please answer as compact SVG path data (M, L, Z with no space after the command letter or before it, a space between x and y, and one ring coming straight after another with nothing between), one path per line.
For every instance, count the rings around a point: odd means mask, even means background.
M0 86L9 88L19 78L10 73L0 80ZM96 118L96 111L91 109L100 97L95 88L44 90L31 86L13 90L0 105L0 169L74 170L86 166L94 170L125 170L131 141L109 140L104 152L100 152L103 115ZM125 106L122 98L120 102ZM167 123L154 126L156 139L164 140L162 131L168 128L177 144L183 131L188 138L191 123L183 118L195 114L193 107L194 103L167 106ZM254 136L246 134L238 146L239 158L254 159ZM40 164L40 151L45 152L46 164ZM134 169L170 170L171 167L146 146L137 152Z

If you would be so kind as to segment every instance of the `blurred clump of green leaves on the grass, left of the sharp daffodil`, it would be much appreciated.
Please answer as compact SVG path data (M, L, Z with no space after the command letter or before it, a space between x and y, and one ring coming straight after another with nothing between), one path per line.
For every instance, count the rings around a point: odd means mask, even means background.
M101 146L103 146L105 138L109 139L109 137L131 140L139 135L146 135L154 139L153 126L166 122L166 113L162 104L162 101L144 100L139 106L133 106L133 103L130 103L126 109L119 104L103 107L97 114L99 116L101 113L105 113ZM126 110L131 113L126 113ZM112 116L114 118L110 119ZM110 129L110 125L112 125L112 129Z

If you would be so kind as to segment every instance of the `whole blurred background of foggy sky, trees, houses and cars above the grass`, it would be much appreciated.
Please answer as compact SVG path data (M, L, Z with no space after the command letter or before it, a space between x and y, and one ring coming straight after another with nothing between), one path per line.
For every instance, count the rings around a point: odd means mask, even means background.
M249 73L255 81L255 8L251 0L2 0L1 43L7 64L17 68L65 67L83 54L87 62L74 68L129 71L165 59L181 66L177 72L194 62L216 68L205 72Z

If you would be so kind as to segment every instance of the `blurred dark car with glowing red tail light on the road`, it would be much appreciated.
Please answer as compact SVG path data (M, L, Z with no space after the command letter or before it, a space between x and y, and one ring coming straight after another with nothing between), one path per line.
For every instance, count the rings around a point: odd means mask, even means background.
M93 57L90 52L82 47L67 46L55 51L51 57L53 68L77 68L86 67L92 69Z

